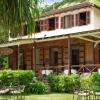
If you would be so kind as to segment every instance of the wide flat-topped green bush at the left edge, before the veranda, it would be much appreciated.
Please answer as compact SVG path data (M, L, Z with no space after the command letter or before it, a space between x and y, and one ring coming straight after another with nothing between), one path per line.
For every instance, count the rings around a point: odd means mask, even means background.
M24 70L3 70L0 71L1 85L28 85L32 82L34 74L32 71Z

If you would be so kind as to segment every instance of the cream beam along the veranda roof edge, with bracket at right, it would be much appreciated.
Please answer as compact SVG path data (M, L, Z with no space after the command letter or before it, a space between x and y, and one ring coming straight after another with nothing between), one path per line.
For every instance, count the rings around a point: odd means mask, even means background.
M82 36L92 36L92 35L96 35L100 33L100 31L97 31L97 32L88 32L88 33L77 33L77 34L67 34L67 35L62 35L62 36L55 36L55 37L48 37L48 38L41 38L41 39L35 39L35 41L37 43L39 42L46 42L46 41L53 41L53 40L60 40L60 39L67 39L68 38L68 35L70 35L71 38L80 38L80 39L83 39L83 40L86 40L86 41L90 41L90 42L95 42L95 46L98 44L99 40L97 41L94 41L94 40L91 40L91 39L88 39L88 38L84 38ZM30 44L30 43L33 43L34 42L34 39L33 38L26 38L24 40L15 40L15 41L11 41L7 44L1 44L0 45L0 48L1 47L9 47L9 46L15 46L15 45L22 45L22 44Z

